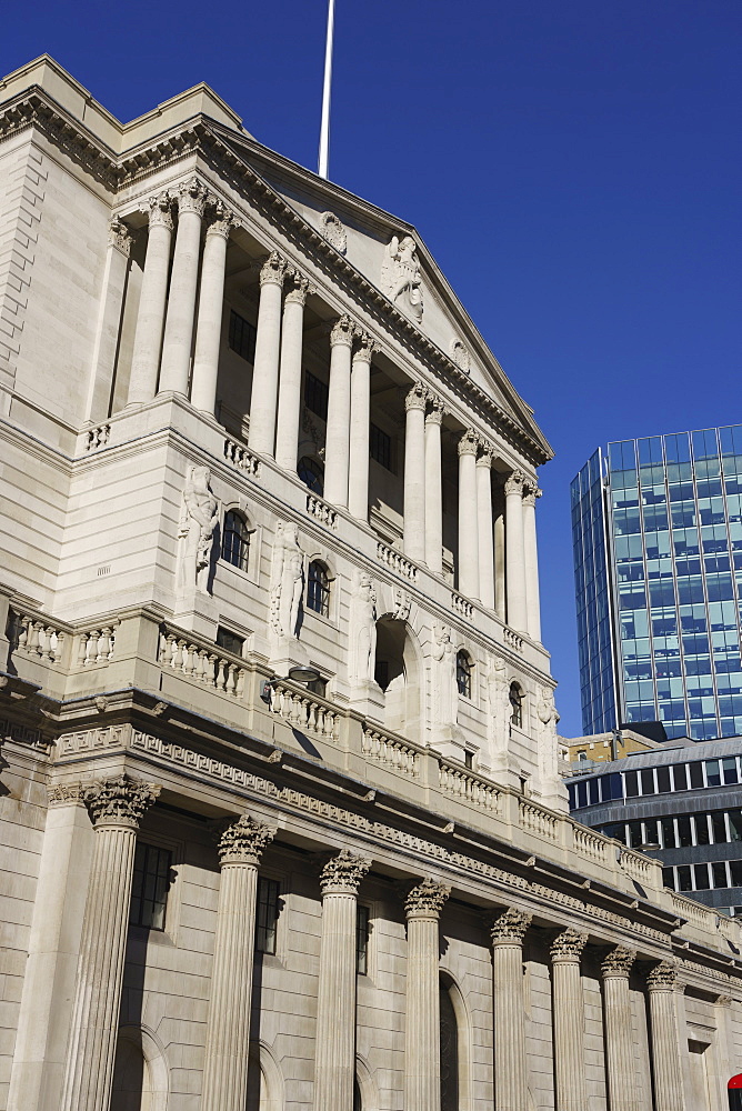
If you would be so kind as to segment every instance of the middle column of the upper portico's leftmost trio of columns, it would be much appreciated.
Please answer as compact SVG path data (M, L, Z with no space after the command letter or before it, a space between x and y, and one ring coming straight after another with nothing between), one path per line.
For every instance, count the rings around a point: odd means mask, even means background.
M198 178L192 178L178 191L178 231L162 341L160 393L188 393L201 252L201 217L205 199L205 190Z

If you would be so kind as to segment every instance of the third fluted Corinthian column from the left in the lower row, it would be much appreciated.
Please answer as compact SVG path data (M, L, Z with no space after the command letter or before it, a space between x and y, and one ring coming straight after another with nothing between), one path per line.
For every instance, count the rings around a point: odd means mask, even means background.
M322 869L314 1111L352 1108L355 1080L355 912L370 860L343 849Z

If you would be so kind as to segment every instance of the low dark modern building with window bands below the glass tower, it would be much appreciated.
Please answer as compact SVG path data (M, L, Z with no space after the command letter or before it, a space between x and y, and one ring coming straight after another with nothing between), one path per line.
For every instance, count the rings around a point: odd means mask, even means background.
M669 742L568 779L572 814L662 861L664 885L742 915L742 738Z

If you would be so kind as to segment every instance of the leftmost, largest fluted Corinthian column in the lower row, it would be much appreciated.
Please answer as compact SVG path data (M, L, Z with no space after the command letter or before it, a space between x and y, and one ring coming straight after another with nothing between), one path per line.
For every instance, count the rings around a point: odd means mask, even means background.
M137 830L159 793L153 783L121 775L101 780L83 794L96 841L61 1111L108 1111Z

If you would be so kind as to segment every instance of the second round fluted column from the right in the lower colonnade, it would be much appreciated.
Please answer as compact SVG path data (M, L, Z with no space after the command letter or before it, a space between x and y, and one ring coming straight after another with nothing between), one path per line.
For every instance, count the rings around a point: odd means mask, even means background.
M631 1041L631 997L629 973L636 959L633 949L618 945L601 964L605 1061L611 1111L639 1111Z

